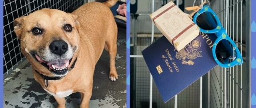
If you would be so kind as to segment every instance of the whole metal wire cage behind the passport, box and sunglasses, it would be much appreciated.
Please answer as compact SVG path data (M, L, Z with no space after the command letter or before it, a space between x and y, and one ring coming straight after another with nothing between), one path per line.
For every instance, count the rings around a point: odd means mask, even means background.
M193 6L194 2L194 0L136 0L137 13L131 14L130 70L131 94L134 94L131 100L132 108L250 108L250 69L247 60L250 58L248 55L250 50L247 50L250 44L248 40L250 0L210 0L210 7L216 12L227 33L240 49L244 64L233 68L218 66L164 104L141 51L162 37L161 32L152 24L149 15L170 1L174 1L175 4L179 2L178 6L181 9ZM195 1L196 6L203 2L203 0Z

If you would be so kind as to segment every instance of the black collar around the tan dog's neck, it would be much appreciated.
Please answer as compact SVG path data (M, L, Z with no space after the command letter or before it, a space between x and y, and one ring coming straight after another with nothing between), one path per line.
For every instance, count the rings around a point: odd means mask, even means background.
M77 58L76 58L77 60ZM72 64L72 66L70 67L70 70L74 68L75 64L76 64L76 60L74 61L74 63ZM70 71L69 70L69 71ZM36 71L36 70L35 70ZM46 75L43 75L41 73L39 73L38 71L36 71L36 73L38 73L45 81L45 87L48 87L48 81L49 80L59 80L59 79L62 79L64 78L66 75L64 76L61 76L61 77L49 77L49 76L46 76Z

